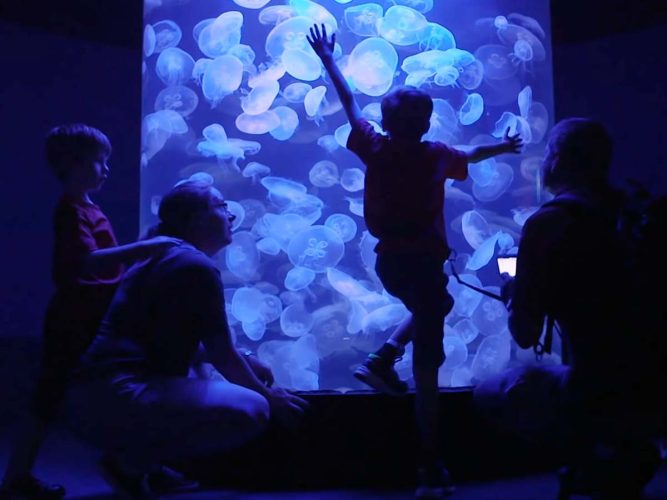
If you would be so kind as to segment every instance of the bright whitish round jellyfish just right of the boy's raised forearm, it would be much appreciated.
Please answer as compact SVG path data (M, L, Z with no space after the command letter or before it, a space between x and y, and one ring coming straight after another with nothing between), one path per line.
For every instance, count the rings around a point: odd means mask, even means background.
M397 65L396 49L382 38L366 38L350 53L349 71L354 86L371 97L382 95L391 88Z

